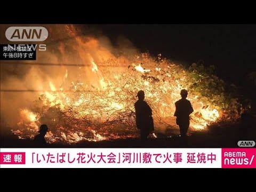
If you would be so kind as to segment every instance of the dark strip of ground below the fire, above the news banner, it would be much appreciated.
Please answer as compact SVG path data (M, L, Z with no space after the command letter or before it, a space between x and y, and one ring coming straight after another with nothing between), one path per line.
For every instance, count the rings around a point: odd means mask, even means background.
M141 143L139 139L111 141L80 141L73 145L54 143L50 148L235 148L239 140L256 141L256 121L221 122L212 125L207 131L197 131L188 137L188 145L181 145L180 137L158 137ZM1 137L1 148L34 148L31 140L17 139L14 136Z

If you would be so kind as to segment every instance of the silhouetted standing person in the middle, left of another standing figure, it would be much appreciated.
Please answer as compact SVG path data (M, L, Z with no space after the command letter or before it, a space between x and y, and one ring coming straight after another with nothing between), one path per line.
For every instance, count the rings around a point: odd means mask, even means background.
M152 129L151 122L151 115L152 110L149 107L148 103L144 101L145 93L144 91L140 90L137 93L138 101L135 102L135 115L136 115L136 125L137 129L140 130L140 138L141 140L146 140L150 133L150 129Z

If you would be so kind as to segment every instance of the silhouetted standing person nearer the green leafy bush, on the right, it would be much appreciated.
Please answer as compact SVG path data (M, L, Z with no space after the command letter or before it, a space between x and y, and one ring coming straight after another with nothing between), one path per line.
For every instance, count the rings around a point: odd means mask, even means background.
M183 89L180 92L181 99L175 102L176 123L180 127L180 136L182 140L186 139L188 127L189 127L189 115L194 111L189 100L187 100L188 91Z

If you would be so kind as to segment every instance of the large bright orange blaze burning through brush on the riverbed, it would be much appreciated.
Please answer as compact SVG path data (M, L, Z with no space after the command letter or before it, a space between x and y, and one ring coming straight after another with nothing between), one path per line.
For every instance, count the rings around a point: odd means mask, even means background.
M203 91L191 89L200 79L195 79L194 74L182 66L146 53L117 57L102 48L96 39L76 36L70 26L67 30L75 39L84 64L84 67L77 66L77 71L90 78L81 75L71 79L70 71L65 69L58 85L51 79L47 86L38 84L40 90L46 91L39 92L34 107L21 109L18 130L13 131L20 138L33 138L41 124L47 124L51 130L46 135L49 142L137 137L134 102L139 90L145 91L145 100L153 109L156 131L177 129L174 102L180 99L181 89L188 90L188 100L194 108L191 129L204 129L220 116L220 106L215 105L212 98L203 96ZM91 45L99 47L93 54L86 52ZM60 52L63 52L62 46L59 46ZM152 137L157 136L154 133Z

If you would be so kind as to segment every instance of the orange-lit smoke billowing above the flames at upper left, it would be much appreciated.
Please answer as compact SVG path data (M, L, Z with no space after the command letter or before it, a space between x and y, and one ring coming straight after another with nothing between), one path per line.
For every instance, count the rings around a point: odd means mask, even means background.
M1 25L2 44L10 43L5 38L5 30L8 27L11 25ZM106 63L106 59L111 61L119 58L125 63L122 55L134 55L139 52L124 36L117 38L117 46L114 47L108 37L102 35L102 32L95 27L86 25L43 25L43 27L49 31L48 38L42 42L47 45L47 51L37 49L36 61L1 61L1 90L13 90L1 91L1 133L4 133L6 127L17 125L20 121L21 109L33 108L33 101L38 99L40 94L44 94L44 91L51 90L49 82L58 90L60 87L68 88L71 82L78 79L97 87L100 74L96 76L93 73L92 62L100 66L101 63ZM68 74L67 78L64 78L65 74Z

